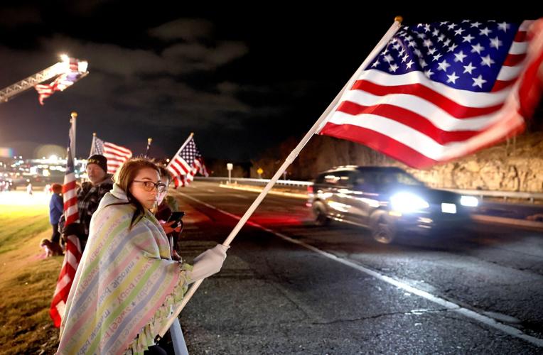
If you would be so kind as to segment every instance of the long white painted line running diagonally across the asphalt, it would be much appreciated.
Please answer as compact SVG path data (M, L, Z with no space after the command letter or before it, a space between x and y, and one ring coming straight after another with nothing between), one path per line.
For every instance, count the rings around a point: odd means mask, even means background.
M189 198L190 200L194 200L195 202L203 204L206 207L209 207L211 209L215 209L215 211L217 211L217 212L220 212L222 214L226 214L227 216L232 217L233 219L237 219L237 220L241 219L241 217L238 217L235 214L231 214L229 212L223 211L222 209L218 209L217 207L212 206L211 204L208 204L208 203L205 203L205 202L200 201L198 199L195 199L194 197L190 197L190 196L188 196L186 194L183 194L182 192L180 192L180 194L187 197L187 198ZM364 266L361 266L361 265L359 265L357 263L353 263L353 261L348 261L348 260L345 260L343 258L338 258L338 256L335 256L332 253L322 251L321 249L318 249L318 248L316 248L314 246L303 243L303 241L292 239L289 236L286 236L286 235L281 234L281 233L276 232L276 231L272 231L271 229L268 229L265 226L261 226L260 224L250 222L250 221L247 221L247 224L249 224L251 226L255 226L255 227L259 228L259 229L267 231L267 232L269 232L271 234L274 234L276 236L279 236L279 238L284 239L286 241L290 241L291 243L298 244L299 246L303 246L304 248L309 249L311 251L315 251L316 253L319 253L322 256L325 256L326 258L329 258L329 259L331 259L333 261L337 261L338 263L343 263L346 266L350 266L351 268L355 268L358 271L362 271L362 273L367 273L367 275L371 275L374 278L385 281L385 283L389 283L390 285L394 285L397 288L402 288L403 290L406 290L409 293L414 293L415 295L419 295L420 297L423 297L426 300L429 300L429 301L434 302L434 303L436 303L436 304L438 304L438 305L440 305L442 307L445 307L448 310L458 312L461 315L464 315L464 316L466 316L468 318L471 318L471 319L476 320L478 322L487 324L488 326L493 327L495 329L498 329L498 330L500 330L500 331L502 331L502 332L504 332L506 334L509 334L512 337L517 337L517 338L520 338L522 340L525 340L526 342L532 343L532 344L537 345L539 347L543 347L543 339L532 337L532 336L530 336L528 334L525 334L525 333L521 332L519 329L517 329L515 327L510 327L509 325L497 322L493 318L487 317L485 315L481 315L480 313L475 312L473 310L468 310L468 308L461 307L460 305L457 305L454 302L450 302L450 301L445 300L445 299L443 299L443 298L441 298L439 296L432 295L431 293L428 293L428 292L423 291L423 290L419 290L418 288L414 288L411 285L407 285L407 283L402 283L401 281L394 280L394 278L391 278L391 277L389 277L387 275L383 275L382 273L378 273L377 271L373 271L370 268L365 268Z

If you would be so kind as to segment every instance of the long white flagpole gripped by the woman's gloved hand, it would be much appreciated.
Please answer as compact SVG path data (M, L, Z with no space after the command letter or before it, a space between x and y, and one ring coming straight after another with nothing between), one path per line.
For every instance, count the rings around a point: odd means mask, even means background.
M257 209L260 202L262 202L262 200L264 200L264 197L266 197L267 193L269 192L271 187L274 186L275 182L277 180L279 180L279 178L284 173L286 168L288 168L289 165L291 165L291 163L294 161L294 159L296 159L296 157L299 155L302 148L304 146L306 146L306 143L309 141L309 139L311 139L311 136L313 136L313 134L317 133L322 128L322 126L324 124L326 124L326 120L328 119L328 116L330 115L330 112L332 112L333 109L335 109L338 106L338 104L340 102L340 98L343 96L343 92L345 92L345 90L348 89L349 87L353 86L354 82L360 76L360 73L362 72L362 70L364 70L364 68L367 67L367 65L370 63L370 60L375 58L375 55L377 55L377 53L379 53L382 50L382 48L388 43L388 41L390 40L390 38L392 38L394 33L396 33L398 31L399 26L401 24L402 24L402 17L401 16L397 16L396 18L394 18L394 23L392 23L392 26L390 26L387 33L385 33L385 35L381 38L379 43L377 43L377 45L375 45L375 48L373 48L370 55L367 56L367 58L364 60L364 62L362 62L362 65L360 65L360 67L355 72L355 74L350 78L350 80L347 82L347 84L345 84L343 89L341 89L341 91L335 96L335 99L333 99L333 101L328 105L328 107L323 112L323 114L321 114L321 117L319 117L319 119L315 122L315 124L313 124L311 129L306 133L306 136L304 136L302 138L302 140L300 141L300 143L298 143L298 146L296 146L296 148L294 148L294 150L291 151L289 156L286 157L286 160L284 161L283 165L281 165L279 170L277 170L274 177L271 178L271 180L269 180L266 187L264 187L264 190L262 190L262 192L260 192L260 195L258 195L256 200L254 200L254 202L251 204L251 207L249 207L249 209L247 209L247 212L245 212L245 214L240 219L240 221L237 222L234 229L230 232L230 235L227 237L225 242L222 243L222 244L225 244L226 246L229 246L230 243L232 243L232 240L235 238L235 236L240 231L240 229L242 229L242 226L245 224L245 222L247 222L247 219L249 219L249 217L251 217L254 210ZM185 305L188 303L188 301L190 300L190 297L192 297L194 295L194 293L196 292L196 290L198 290L198 287L200 287L200 284L202 283L202 281L203 280L196 281L194 283L194 285L190 288L190 290L187 291L185 297L183 297L183 300L181 301L181 304L176 307L176 309L173 311L173 314L168 319L168 323L161 329L161 332L158 333L159 337L163 337L163 335L169 329L170 325L178 317L179 313L181 313L181 310L183 310L183 307L185 307Z

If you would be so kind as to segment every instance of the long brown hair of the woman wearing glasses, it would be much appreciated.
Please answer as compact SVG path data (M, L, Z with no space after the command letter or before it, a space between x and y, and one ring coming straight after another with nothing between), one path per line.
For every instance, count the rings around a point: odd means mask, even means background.
M134 182L136 175L138 175L139 170L145 168L156 170L156 172L160 174L158 166L156 166L156 164L153 163L151 160L147 158L131 158L124 162L121 168L119 168L119 171L117 172L115 177L115 183L119 185L119 187L121 187L124 192L127 193L128 203L136 207L136 211L132 216L129 229L132 228L134 222L143 217L145 214L145 208L130 192L130 187Z

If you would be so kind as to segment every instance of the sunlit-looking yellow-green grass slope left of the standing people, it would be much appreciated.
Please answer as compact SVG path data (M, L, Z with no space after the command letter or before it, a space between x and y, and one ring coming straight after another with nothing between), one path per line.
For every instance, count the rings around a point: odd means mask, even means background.
M0 204L0 354L53 354L58 329L50 302L63 262L43 258L50 237L47 204Z

